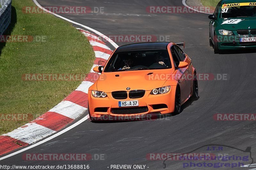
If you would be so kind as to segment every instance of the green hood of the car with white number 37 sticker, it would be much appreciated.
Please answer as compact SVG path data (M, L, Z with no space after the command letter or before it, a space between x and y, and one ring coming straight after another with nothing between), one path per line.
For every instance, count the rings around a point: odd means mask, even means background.
M228 19L244 19L243 21L237 23L237 24L222 24L227 19L219 18L218 22L220 26L223 27L225 30L238 30L238 29L248 29L250 26L251 29L256 28L256 17L239 17L239 18L228 18ZM222 24L222 25L221 25Z

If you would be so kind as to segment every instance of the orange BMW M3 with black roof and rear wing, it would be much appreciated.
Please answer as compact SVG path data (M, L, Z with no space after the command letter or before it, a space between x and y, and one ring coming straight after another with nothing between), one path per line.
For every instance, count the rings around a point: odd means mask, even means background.
M196 69L179 47L184 45L145 42L116 48L105 66L93 68L101 75L88 92L91 120L180 113L182 104L198 97Z

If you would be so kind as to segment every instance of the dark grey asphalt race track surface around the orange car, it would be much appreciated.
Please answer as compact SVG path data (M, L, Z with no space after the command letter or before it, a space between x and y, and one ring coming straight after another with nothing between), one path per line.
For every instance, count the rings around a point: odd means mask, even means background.
M256 124L253 121L214 121L216 113L255 113L255 53L214 54L209 46L209 19L203 13L148 13L147 6L183 6L181 0L39 0L42 6L104 7L101 14L60 14L105 35L170 36L186 41L184 52L197 73L226 74L227 80L200 80L196 101L189 100L179 115L152 121L93 123L87 120L26 153L105 154L105 160L24 161L17 154L4 165L90 165L110 169L112 164L143 164L163 169L163 161L146 159L148 153L185 153L207 144L245 150L256 157ZM65 36L65 35L63 35ZM116 42L118 45L127 42ZM113 49L113 48L112 48ZM228 152L228 151L227 151ZM182 169L168 162L169 169Z

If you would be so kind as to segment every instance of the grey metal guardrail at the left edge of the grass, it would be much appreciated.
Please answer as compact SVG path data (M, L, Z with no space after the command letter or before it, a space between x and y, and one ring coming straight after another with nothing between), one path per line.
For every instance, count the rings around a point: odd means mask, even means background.
M12 0L0 0L0 36L11 23Z

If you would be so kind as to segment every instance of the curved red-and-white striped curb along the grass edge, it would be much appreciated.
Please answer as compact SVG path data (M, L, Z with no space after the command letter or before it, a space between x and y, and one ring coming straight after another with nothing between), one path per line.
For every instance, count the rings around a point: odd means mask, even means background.
M87 37L93 47L96 57L93 67L105 65L112 50L96 35L80 28L77 29ZM81 116L88 108L88 88L93 85L98 77L99 74L91 69L81 85L58 105L18 129L1 135L0 155L50 136ZM87 115L87 117L89 116Z

